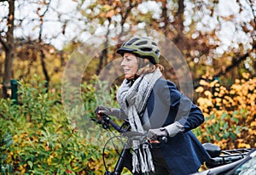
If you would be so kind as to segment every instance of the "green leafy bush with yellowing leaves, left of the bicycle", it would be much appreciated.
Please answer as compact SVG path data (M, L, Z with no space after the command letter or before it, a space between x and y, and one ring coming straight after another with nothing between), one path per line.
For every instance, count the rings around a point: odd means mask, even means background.
M102 131L90 121L97 105L94 86L82 85L86 114L76 123L79 128L67 117L56 89L47 91L36 78L20 82L19 105L0 100L1 174L103 173L102 144L96 143ZM83 126L91 128L80 132Z

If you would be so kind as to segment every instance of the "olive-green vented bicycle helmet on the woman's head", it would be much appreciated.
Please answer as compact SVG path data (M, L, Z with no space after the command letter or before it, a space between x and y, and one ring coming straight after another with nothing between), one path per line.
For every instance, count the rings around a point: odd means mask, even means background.
M135 54L142 59L149 59L154 65L160 62L160 48L146 37L132 37L122 44L117 53L122 56L125 53Z

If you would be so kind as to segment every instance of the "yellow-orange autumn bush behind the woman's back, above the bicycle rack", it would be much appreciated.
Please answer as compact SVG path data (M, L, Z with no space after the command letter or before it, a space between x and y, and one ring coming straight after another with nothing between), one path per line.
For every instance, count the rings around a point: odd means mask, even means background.
M195 89L206 116L201 128L195 130L201 142L212 142L222 149L256 147L256 78L242 75L230 88L216 78L204 77Z

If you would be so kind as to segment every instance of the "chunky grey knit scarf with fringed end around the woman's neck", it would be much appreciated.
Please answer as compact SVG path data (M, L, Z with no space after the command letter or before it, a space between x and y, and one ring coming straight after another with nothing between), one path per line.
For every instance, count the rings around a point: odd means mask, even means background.
M128 116L131 131L145 133L140 115L143 113L143 110L145 110L154 83L161 76L160 70L156 69L153 73L139 76L131 87L126 79L121 84L117 92L117 100ZM142 147L140 147L140 144L138 140L134 140L132 143L134 150L132 155L132 172L154 172L152 155L148 144L143 144Z

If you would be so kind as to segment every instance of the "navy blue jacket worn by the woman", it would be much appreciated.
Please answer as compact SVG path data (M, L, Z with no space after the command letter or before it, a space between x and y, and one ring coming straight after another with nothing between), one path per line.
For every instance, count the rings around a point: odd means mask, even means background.
M173 82L163 78L157 80L148 98L147 108L142 116L144 129L166 127L178 121L184 132L168 137L168 142L159 144L172 174L186 175L197 172L208 158L207 151L190 131L204 121L201 110Z

